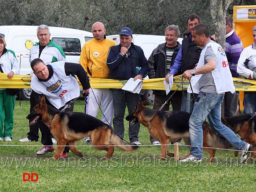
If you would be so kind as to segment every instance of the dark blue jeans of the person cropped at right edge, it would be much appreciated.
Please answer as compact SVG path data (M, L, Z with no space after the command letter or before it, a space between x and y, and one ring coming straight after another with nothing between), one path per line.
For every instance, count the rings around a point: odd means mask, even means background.
M256 92L244 92L244 113L254 114L256 112Z

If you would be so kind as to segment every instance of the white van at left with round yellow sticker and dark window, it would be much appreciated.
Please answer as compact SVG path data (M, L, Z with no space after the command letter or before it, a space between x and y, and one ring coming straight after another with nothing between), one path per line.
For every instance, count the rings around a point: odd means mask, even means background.
M38 26L0 26L0 34L6 41L6 49L13 50L20 64L20 74L30 74L31 68L28 60L30 48L39 42L36 36ZM80 53L84 43L93 38L91 32L50 27L51 40L62 47L67 62L79 63ZM23 89L21 98L29 100L31 89Z

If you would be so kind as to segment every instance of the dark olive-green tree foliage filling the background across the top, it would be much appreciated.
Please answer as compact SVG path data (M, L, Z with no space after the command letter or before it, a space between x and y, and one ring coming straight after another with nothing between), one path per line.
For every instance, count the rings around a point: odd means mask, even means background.
M233 0L227 15L232 17L234 5L251 4L256 0ZM217 6L210 6L210 0L2 0L0 25L47 24L91 31L92 24L101 21L107 35L118 34L124 26L134 34L163 35L175 24L183 34L187 16L195 13L214 34L211 12Z

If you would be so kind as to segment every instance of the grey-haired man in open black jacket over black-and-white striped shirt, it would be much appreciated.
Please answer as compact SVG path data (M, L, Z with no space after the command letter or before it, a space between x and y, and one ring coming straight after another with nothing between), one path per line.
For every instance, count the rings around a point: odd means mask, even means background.
M177 41L180 36L180 30L176 25L170 25L165 29L166 42L158 45L148 58L148 76L149 78L164 78L170 73L170 67L174 64L174 59L180 49L180 43ZM178 72L176 75L181 74ZM174 93L170 91L166 95L165 90L153 90L155 94L153 109L159 109L166 100ZM170 102L172 104L172 110L180 111L182 101L182 92L177 91L168 101L168 103L162 108L163 111L168 111L170 108ZM160 142L150 135L150 141L153 145L160 145ZM178 140L177 142L180 142Z

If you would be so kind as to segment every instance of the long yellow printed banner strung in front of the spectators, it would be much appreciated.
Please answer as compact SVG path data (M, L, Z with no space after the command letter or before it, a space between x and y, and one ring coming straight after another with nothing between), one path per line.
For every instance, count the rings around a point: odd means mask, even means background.
M30 88L30 81L32 76L30 75L14 75L13 78L8 79L7 74L0 73L0 88ZM256 81L233 78L234 86L236 91L256 91ZM148 79L143 80L142 89L153 89L153 90L165 90L164 78ZM92 88L122 88L127 80L114 80L114 79L96 79L90 78L90 85ZM189 81L183 79L182 75L174 77L172 90L187 89Z

